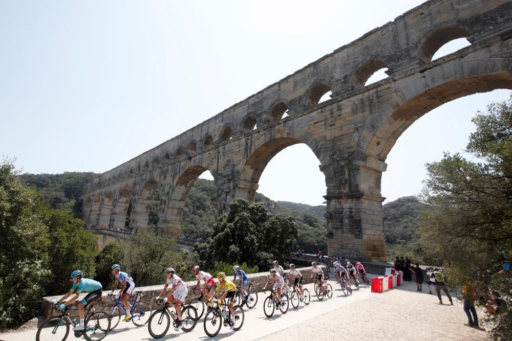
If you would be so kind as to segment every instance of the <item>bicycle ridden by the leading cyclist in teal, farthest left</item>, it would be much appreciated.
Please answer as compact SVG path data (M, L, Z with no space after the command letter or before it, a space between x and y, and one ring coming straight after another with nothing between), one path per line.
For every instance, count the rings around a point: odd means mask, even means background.
M91 306L86 307L84 329L74 331L75 337L83 335L88 341L99 341L109 333L109 314L104 311L96 311L93 306L94 304L91 304ZM77 317L70 317L68 313L69 311L77 311L78 308L66 307L64 310L60 310L58 307L52 307L52 309L56 309L58 314L48 317L41 323L35 336L36 341L65 340L68 337L70 325L73 325L73 327L78 325Z

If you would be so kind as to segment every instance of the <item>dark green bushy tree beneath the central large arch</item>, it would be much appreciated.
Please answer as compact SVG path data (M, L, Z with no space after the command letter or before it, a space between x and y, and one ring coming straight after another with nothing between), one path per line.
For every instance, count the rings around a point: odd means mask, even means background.
M234 199L229 213L221 215L208 232L205 243L195 246L206 268L212 260L228 264L247 263L259 269L272 260L284 263L297 245L297 228L292 217L272 215L263 204Z

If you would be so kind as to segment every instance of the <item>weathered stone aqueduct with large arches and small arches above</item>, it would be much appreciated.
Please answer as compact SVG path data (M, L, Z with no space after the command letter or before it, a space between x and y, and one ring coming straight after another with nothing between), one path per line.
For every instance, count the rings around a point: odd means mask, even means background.
M456 38L471 46L432 61ZM383 67L389 77L365 86ZM325 175L328 252L383 261L380 181L400 134L445 102L512 88L511 71L512 0L431 0L101 174L80 198L86 223L122 228L131 202L130 224L144 230L158 188L158 228L178 235L202 172L214 176L222 212L234 198L252 200L271 158L304 143Z

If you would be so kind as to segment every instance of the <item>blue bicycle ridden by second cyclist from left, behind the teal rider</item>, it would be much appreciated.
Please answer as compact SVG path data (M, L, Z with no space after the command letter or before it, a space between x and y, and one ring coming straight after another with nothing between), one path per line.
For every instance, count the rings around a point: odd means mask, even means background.
M137 327L144 326L147 321L150 319L151 313L153 312L153 309L151 308L151 304L147 302L139 302L138 298L142 297L144 295L144 291L135 291L135 297L129 298L128 301L131 301L130 304L130 314L132 315L131 320L134 325ZM114 299L114 295L109 294L107 296L111 300ZM111 319L111 326L110 330L113 330L117 327L119 324L119 321L121 321L121 313L126 314L126 309L121 304L121 298L119 297L114 304L109 304L103 307L101 309L103 311L109 312L110 319Z

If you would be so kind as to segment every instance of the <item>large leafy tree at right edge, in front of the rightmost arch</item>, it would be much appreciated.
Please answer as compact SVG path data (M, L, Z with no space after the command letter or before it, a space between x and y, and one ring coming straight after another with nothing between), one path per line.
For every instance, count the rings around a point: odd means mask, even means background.
M512 99L490 104L488 114L473 119L476 132L466 152L445 153L426 165L422 200L433 207L420 220L420 234L433 245L446 265L451 282L478 288L484 305L492 290L505 293L512 286L510 271L503 269L512 245ZM493 317L496 338L512 337L510 298L506 309Z

